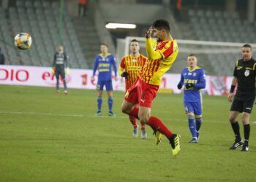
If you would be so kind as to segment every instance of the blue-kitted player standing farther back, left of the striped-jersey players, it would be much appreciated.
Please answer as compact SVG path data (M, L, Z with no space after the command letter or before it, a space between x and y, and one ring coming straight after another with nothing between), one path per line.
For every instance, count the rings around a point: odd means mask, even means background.
M117 68L116 68L116 58L114 55L111 55L108 52L108 45L101 44L100 45L100 54L95 57L94 61L94 71L91 77L91 81L94 81L96 71L98 70L98 82L97 82L97 91L98 91L98 98L97 98L97 106L98 111L96 116L102 115L102 92L103 87L106 87L108 92L108 116L115 116L112 111L113 107L113 86L112 86L112 66L115 72L115 80L117 81Z

